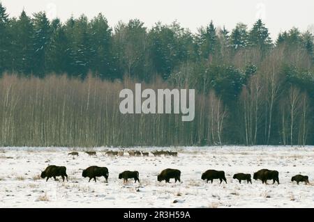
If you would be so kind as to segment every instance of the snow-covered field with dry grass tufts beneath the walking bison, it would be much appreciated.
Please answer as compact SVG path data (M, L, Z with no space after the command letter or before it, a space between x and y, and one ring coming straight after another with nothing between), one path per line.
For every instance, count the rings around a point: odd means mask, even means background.
M0 207L314 207L314 147L171 148L178 157L107 157L105 149L90 157L79 148L0 148ZM68 156L71 150L79 157ZM66 166L68 182L40 179L40 171L53 164ZM93 165L107 166L108 183L82 177L82 169ZM182 182L158 182L165 168L179 169ZM281 184L232 179L234 173L253 177L262 168L279 171ZM206 184L200 177L207 169L225 171L227 184ZM119 180L125 170L139 171L140 184ZM313 183L292 183L299 173Z

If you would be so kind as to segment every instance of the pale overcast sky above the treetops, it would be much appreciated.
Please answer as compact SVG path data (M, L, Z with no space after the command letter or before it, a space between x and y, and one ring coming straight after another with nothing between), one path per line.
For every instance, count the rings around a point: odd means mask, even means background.
M45 10L50 19L65 21L84 13L91 18L103 13L109 24L138 18L151 27L155 22L170 24L177 19L182 26L196 32L211 19L216 26L233 29L237 22L252 24L262 18L272 38L280 31L298 27L306 31L314 24L313 0L0 0L10 16L28 15ZM314 26L313 26L314 27ZM314 28L313 28L314 29Z

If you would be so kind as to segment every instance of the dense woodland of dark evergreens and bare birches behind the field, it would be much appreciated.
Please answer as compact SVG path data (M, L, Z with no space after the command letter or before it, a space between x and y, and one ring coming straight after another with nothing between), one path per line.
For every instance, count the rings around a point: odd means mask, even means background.
M10 17L0 3L0 145L313 145L313 40L297 28L271 40L261 20L191 33ZM195 88L195 120L122 115L119 91L135 83Z

